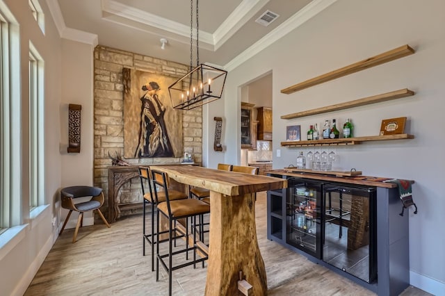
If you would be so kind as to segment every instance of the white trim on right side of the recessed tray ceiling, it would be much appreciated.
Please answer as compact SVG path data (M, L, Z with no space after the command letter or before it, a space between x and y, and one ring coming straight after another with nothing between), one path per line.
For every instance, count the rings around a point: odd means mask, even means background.
M270 0L243 0L213 33L215 50L232 37L251 17L261 10Z

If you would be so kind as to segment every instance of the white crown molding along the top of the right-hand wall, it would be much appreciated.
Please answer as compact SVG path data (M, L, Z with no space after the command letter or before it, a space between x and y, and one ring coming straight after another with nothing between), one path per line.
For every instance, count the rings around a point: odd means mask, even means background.
M252 46L243 51L241 54L238 54L238 56L227 63L223 69L226 71L235 69L245 61L252 58L252 56L255 56L263 49L266 49L280 38L307 22L307 20L311 19L318 13L321 13L321 11L331 6L335 2L337 2L337 0L314 0L310 2L307 4L307 6L298 11L298 13L292 17L289 17L286 22L283 22L280 24L280 26L277 26L277 28L270 31L270 33L267 35L264 35L263 38L252 44Z

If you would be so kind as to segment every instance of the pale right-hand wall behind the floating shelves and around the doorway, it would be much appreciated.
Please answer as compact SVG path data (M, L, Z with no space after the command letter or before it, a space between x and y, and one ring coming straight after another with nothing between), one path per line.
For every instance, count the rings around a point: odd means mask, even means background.
M239 87L261 74L273 72L273 167L296 163L298 151L280 147L287 125L309 124L350 117L355 135L378 135L383 119L408 117L405 131L414 140L366 142L352 147L330 147L339 154L339 170L351 167L370 176L412 179L419 213L410 209L410 283L435 295L445 290L445 229L442 181L445 138L444 111L445 1L339 0L295 31L227 74L225 85L225 142L227 163L238 162L241 101ZM329 81L293 94L282 88L409 44L416 50L390 63ZM410 88L415 96L385 103L281 120L280 115L351 101L392 90ZM213 108L213 106L212 106ZM281 157L276 157L281 149ZM314 150L314 149L313 149ZM211 154L209 155L211 158Z

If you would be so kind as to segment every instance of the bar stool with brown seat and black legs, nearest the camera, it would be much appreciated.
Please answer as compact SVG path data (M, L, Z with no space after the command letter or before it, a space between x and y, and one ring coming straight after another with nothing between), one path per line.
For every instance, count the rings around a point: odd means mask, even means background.
M151 170L152 172L152 182L153 187L160 186L164 189L165 202L161 202L159 199L159 192L154 191L154 196L156 199L156 209L157 209L157 226L156 226L156 281L159 281L159 262L168 272L168 295L172 295L172 272L173 270L178 270L179 268L184 268L188 265L195 265L196 263L207 260L207 252L197 244L196 241L196 231L193 231L193 245L189 247L189 231L188 231L188 218L193 218L193 224L196 224L196 217L210 213L210 206L199 199L170 199L170 190L167 186L168 175L165 172L159 170ZM160 231L159 229L159 219L161 215L168 218L168 231ZM181 224L178 220L186 220L185 229L180 227ZM175 233L179 232L184 235L186 239L185 249L175 250L173 252L173 239L175 238ZM160 254L159 252L159 235L162 233L168 233L168 254ZM202 258L196 258L197 250L202 254ZM188 251L193 251L193 261L188 261L179 265L173 266L172 259L173 256L186 252L186 259L188 259ZM168 263L165 263L164 258L168 258Z

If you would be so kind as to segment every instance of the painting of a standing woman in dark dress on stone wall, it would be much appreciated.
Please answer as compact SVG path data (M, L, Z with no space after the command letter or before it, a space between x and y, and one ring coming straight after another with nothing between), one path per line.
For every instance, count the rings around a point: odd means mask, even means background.
M168 95L176 79L128 68L122 79L124 158L181 157L182 113Z

